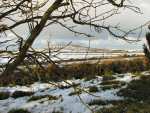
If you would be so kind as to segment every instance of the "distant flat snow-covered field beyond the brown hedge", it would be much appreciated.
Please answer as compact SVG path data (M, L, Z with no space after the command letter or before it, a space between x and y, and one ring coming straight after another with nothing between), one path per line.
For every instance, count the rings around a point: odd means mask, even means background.
M47 54L48 55L48 54ZM89 59L89 58L112 58L117 56L136 56L143 55L142 52L126 52L126 53L111 53L111 52L60 52L60 53L51 53L50 58L53 61L59 60L71 60L71 59ZM8 56L0 57L0 64L6 64L10 59ZM40 59L39 59L40 60Z

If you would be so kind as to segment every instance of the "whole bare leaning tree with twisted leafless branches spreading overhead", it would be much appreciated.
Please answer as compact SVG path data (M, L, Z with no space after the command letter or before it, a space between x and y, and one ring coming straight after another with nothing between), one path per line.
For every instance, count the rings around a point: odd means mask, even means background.
M109 8L106 8L109 7ZM136 6L130 5L127 0L2 0L0 1L0 32L7 36L10 31L16 35L19 52L14 59L11 59L2 75L12 74L24 59L29 55L27 52L31 48L37 36L44 27L58 24L63 28L78 35L92 37L89 33L84 33L74 29L67 22L75 25L90 26L96 32L106 30L111 35L127 41L127 35L134 30L124 31L119 25L107 25L105 21L117 15L121 8L128 8L136 13L141 13ZM28 25L29 37L19 36L14 29L21 25ZM6 44L10 40L0 42ZM13 46L13 45L9 45ZM7 49L6 49L7 51ZM5 51L5 52L6 52ZM4 52L4 51L3 51ZM7 51L8 52L8 51Z

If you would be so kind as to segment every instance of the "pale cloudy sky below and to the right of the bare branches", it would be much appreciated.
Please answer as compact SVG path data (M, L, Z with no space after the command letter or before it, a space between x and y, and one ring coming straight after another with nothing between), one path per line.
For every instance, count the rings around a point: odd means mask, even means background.
M132 29L134 27L138 27L147 21L150 21L150 0L130 0L133 5L138 6L143 14L137 14L131 10L123 10L121 14L112 17L109 22L110 23L120 23L120 26L125 30ZM23 37L28 37L28 34L25 32L25 26L18 27L19 33ZM79 31L84 31L87 33L92 33L94 35L93 38L87 38L84 36L75 35L68 30L60 27L59 25L52 25L43 30L43 32L38 36L35 40L33 47L35 48L46 48L47 42L50 43L63 43L67 44L72 41L73 44L88 46L90 40L90 46L94 48L107 48L107 49L125 49L125 50L133 50L140 49L142 50L143 44L145 43L145 33L147 29L143 29L143 34L140 38L141 41L128 43L124 40L117 39L109 35L108 32L104 31L102 33L96 33L94 30L91 30L89 27L81 27L77 28ZM9 34L8 37L13 37L12 34ZM135 39L135 36L129 36L130 39Z

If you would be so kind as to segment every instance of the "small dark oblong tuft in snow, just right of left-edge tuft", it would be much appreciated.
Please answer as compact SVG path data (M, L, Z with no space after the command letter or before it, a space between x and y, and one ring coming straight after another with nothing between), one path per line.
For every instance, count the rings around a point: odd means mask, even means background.
M19 97L24 97L24 96L31 96L33 95L33 92L24 92L24 91L15 91L11 97L13 98L19 98Z

